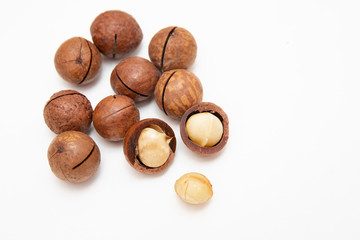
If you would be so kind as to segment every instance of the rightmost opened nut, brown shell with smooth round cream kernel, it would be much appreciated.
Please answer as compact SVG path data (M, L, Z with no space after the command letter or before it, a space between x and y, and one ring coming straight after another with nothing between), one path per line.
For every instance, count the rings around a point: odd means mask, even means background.
M223 149L229 139L229 119L219 106L201 102L180 120L181 139L193 152L210 155Z

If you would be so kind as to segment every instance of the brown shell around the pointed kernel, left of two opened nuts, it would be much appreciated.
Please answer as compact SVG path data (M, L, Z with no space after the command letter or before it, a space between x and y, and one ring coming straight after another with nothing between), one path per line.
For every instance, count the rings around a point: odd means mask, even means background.
M138 158L136 153L136 147L138 144L138 139L141 134L141 131L151 125L159 126L164 133L171 137L171 141L169 143L171 152L167 161L160 167L148 167L144 165ZM165 169L169 167L171 162L174 159L176 150L176 138L174 131L172 128L164 121L157 118L147 118L143 119L137 123L135 123L129 131L126 133L124 138L124 155L128 163L138 172L146 173L146 174L157 174L163 172Z

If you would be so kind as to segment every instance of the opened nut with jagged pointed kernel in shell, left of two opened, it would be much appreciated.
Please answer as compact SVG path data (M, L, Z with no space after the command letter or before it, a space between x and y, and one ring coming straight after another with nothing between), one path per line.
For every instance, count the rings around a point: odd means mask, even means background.
M173 161L175 150L174 131L157 118L143 119L135 123L124 138L125 158L141 173L163 172Z

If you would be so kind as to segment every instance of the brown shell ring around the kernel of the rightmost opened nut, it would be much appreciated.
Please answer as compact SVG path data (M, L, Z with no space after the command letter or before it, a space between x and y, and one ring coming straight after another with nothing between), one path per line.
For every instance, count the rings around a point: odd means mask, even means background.
M188 137L188 134L186 132L186 122L187 120L196 113L202 113L202 112L210 112L214 114L219 120L221 121L223 125L223 135L220 141L212 146L212 147L200 147L197 144L195 144L193 141L190 140ZM201 154L201 155L210 155L216 152L219 152L221 149L223 149L229 139L229 119L219 106L217 106L214 103L211 102L202 102L200 104L197 104L190 109L188 109L185 114L182 116L180 121L180 134L183 142L185 145L193 152Z

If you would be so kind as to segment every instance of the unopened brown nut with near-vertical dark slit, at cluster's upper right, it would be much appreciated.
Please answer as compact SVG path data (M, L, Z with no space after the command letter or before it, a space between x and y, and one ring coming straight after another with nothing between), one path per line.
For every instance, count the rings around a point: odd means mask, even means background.
M195 38L181 27L161 29L149 44L150 59L162 72L190 67L195 61L196 52Z

